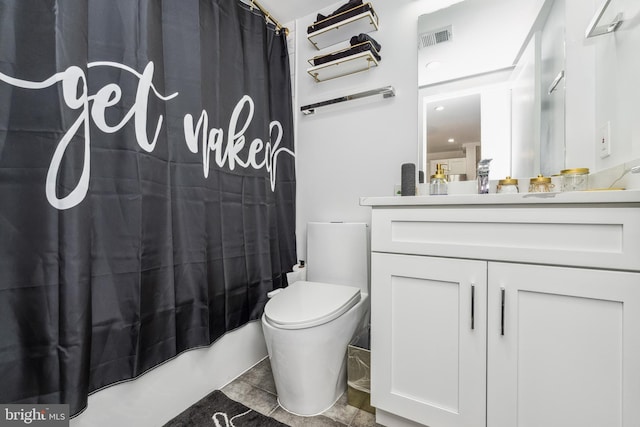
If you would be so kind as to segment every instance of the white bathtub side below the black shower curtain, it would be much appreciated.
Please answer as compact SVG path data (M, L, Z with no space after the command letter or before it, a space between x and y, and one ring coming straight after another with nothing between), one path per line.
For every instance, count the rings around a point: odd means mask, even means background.
M156 427L219 389L267 355L262 325L249 323L213 345L186 351L134 381L89 396L71 427Z

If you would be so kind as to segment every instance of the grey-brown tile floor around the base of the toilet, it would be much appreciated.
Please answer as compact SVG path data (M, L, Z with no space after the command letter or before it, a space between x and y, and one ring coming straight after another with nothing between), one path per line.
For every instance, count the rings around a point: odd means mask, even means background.
M382 427L375 422L373 414L349 406L346 393L333 407L315 417L299 417L285 411L278 405L269 358L227 384L222 391L231 399L291 427Z

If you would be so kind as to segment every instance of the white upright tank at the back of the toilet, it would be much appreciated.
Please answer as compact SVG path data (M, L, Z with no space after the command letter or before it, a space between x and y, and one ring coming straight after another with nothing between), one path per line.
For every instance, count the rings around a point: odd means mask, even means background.
M359 287L368 293L367 224L307 224L307 280Z

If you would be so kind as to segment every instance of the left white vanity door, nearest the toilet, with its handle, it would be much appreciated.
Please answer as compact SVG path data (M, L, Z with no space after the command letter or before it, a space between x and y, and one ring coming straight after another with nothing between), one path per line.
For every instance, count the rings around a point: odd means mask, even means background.
M487 263L373 253L371 265L373 406L484 426Z

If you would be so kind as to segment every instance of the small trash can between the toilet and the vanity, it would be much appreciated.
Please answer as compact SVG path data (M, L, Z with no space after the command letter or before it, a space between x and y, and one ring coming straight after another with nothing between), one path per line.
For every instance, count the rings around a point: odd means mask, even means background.
M375 414L371 406L371 346L369 328L347 346L347 403Z

